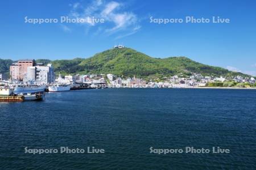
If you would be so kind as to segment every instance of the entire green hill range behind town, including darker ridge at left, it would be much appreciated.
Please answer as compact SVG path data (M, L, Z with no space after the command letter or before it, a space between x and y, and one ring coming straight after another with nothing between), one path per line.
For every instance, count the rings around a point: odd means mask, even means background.
M12 62L10 59L1 59L0 72L7 73ZM131 77L136 75L138 77L146 77L200 73L202 75L214 76L249 76L221 67L204 65L187 57L153 58L130 48L109 49L85 59L75 58L55 61L37 59L36 62L43 62L45 64L51 62L55 67L56 73L67 74L112 73L118 76Z

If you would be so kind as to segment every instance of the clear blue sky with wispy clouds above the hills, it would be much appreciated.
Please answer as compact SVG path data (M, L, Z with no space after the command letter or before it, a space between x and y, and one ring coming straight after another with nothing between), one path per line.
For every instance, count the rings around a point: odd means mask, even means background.
M186 56L256 75L256 2L247 1L1 1L0 58L87 58L123 44L151 57ZM25 17L57 23L25 23ZM104 23L60 23L69 18ZM150 17L209 18L230 23L150 23Z

